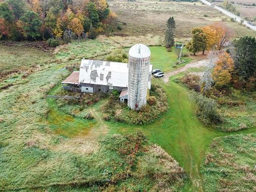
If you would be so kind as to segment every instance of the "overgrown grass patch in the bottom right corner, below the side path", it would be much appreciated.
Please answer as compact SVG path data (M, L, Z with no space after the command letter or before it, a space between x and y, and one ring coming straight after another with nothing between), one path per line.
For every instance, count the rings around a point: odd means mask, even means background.
M255 145L255 134L214 139L201 168L205 191L255 191Z

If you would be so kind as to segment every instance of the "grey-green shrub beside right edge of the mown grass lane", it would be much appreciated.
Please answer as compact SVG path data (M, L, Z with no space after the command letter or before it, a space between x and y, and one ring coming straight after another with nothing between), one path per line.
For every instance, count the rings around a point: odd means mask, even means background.
M201 94L193 94L193 98L197 104L197 116L205 125L222 122L214 99L207 98Z

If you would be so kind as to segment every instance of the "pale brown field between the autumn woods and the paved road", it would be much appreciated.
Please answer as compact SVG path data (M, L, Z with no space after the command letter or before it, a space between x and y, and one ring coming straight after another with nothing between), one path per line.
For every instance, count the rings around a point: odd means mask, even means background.
M164 38L166 21L170 16L176 20L176 38L190 37L191 28L203 27L214 22L225 23L230 27L236 37L244 35L255 36L253 30L240 26L238 23L230 22L216 9L202 5L200 2L159 2L159 1L136 1L113 0L109 2L111 10L118 14L119 25L122 30L115 34L139 36L153 34Z

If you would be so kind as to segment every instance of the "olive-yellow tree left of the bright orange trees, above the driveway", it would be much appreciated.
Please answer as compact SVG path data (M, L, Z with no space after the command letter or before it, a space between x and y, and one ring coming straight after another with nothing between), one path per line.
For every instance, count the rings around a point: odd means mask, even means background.
M192 35L192 40L188 42L187 49L196 55L196 53L205 49L207 37L201 28L193 29Z

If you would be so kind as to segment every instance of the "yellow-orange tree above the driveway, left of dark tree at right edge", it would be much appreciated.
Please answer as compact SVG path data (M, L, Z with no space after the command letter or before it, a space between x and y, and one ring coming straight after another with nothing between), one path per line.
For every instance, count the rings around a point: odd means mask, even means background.
M231 81L231 73L234 70L234 61L228 53L223 53L212 72L212 79L216 87L227 86Z

